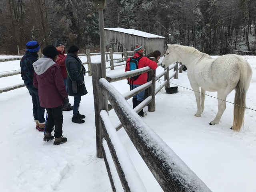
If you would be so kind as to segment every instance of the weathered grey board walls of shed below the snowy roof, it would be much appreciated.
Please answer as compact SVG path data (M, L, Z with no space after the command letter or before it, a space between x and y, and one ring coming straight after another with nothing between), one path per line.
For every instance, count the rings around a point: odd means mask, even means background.
M104 30L105 31L105 43L107 48L122 46L120 51L124 48L128 51L133 51L136 44L141 45L146 49L146 54L154 50L159 50L162 55L164 54L164 38L145 38L132 34L126 34L122 32ZM117 50L114 50L117 51Z

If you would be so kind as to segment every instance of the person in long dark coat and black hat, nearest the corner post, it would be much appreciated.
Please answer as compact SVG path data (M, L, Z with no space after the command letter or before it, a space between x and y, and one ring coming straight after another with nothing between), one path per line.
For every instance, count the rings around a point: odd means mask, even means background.
M84 85L84 75L86 74L86 70L82 65L81 60L78 58L78 51L79 48L77 46L70 46L65 63L68 72L68 95L74 96L72 122L84 123L85 121L83 118L85 118L85 116L79 113L78 108L81 96L86 95L88 92Z

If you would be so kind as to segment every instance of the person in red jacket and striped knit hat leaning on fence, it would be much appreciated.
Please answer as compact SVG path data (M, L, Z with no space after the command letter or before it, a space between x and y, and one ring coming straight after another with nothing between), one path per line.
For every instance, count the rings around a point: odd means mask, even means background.
M135 54L134 54L134 56L132 56L132 58L138 58L140 56L142 57L142 58L140 58L140 60L138 62L138 69L148 66L148 67L152 68L153 70L155 70L157 68L157 63L150 60L147 57L143 57L143 50L144 49L142 46L136 44L135 49L134 49ZM128 58L128 60L126 62L125 71L130 71L130 59L131 58ZM131 80L131 78L128 79L128 83L130 85L132 85L131 90L135 89L138 86L145 84L147 81L148 81L148 73L147 72L140 74L140 76L136 80ZM143 90L142 92L133 96L133 98L132 98L133 108L138 106L143 101L144 94L145 94L145 90ZM142 109L140 112L138 112L138 115L141 117L144 117L147 115L147 113L143 112L143 109Z

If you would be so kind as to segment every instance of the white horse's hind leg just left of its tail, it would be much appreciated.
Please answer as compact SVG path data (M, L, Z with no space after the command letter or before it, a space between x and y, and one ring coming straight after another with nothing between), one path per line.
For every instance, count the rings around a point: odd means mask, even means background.
M226 94L224 91L218 91L218 113L213 121L211 121L209 124L210 125L215 125L220 122L220 118L222 114L224 113L226 109L226 98L228 94Z

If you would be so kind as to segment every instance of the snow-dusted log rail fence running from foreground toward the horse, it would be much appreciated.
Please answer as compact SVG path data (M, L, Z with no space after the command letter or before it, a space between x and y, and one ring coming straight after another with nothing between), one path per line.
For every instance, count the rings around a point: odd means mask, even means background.
M169 72L172 68L174 68L174 72L170 75ZM178 78L178 71L182 72L182 64L178 66L178 63L175 63L168 66L164 72L158 75L156 75L155 70L151 70L149 67L142 69L112 74L105 79L102 78L101 64L92 64L97 157L104 158L113 192L116 192L113 180L116 172L125 192L146 191L138 173L134 171L135 169L130 158L127 154L120 152L120 147L124 148L124 146L122 146L122 142L118 139L116 130L119 130L121 127L124 127L136 150L138 150L138 153L164 192L210 192L210 189L202 180L136 114L146 105L148 105L149 112L155 111L155 95L163 86L168 86L170 78ZM144 72L150 72L150 82L125 94L120 94L110 84L111 82L124 80ZM162 76L165 77L165 81L156 89L156 79ZM147 88L149 88L150 96L136 108L132 109L126 100ZM111 107L108 107L108 101ZM108 110L111 110L111 108L114 108L120 120L119 126L114 127L108 116ZM138 187L133 188L134 183Z

